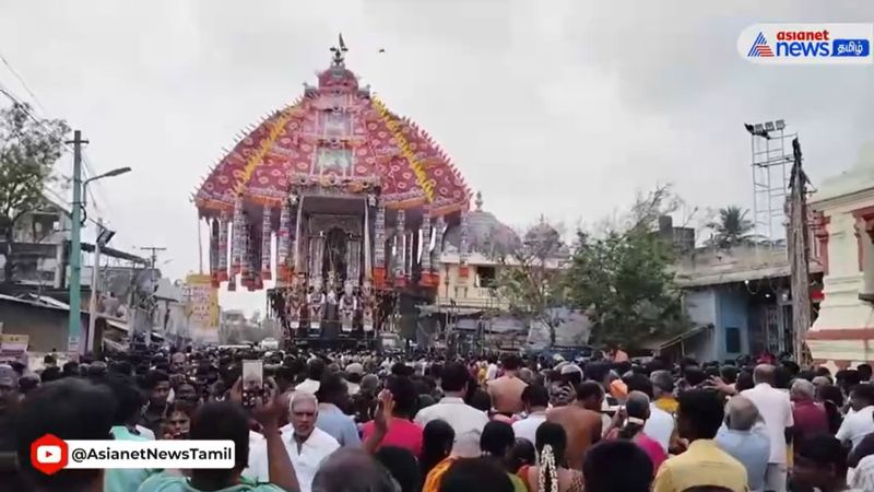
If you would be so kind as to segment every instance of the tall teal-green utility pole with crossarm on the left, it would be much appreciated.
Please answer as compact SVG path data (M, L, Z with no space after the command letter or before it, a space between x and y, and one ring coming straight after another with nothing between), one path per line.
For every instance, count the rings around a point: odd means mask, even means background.
M80 353L82 336L82 131L73 132L73 203L70 232L70 317L68 320L67 351Z

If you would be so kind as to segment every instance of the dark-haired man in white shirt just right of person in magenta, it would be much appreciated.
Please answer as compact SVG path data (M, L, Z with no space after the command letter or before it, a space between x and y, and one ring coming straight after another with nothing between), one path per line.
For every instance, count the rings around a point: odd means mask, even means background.
M415 423L422 427L433 420L446 421L456 431L452 454L465 458L480 456L480 436L488 423L485 412L464 403L469 379L468 368L463 364L446 364L440 378L446 396L437 405L420 410L415 418Z

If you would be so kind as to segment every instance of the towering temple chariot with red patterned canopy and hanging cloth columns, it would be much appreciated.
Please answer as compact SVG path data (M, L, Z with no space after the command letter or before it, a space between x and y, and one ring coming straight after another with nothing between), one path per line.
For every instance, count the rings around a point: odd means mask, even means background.
M342 37L331 51L318 85L250 128L194 196L213 285L274 280L286 344L374 340L404 297L435 295L448 227L461 231L462 260L468 250L471 192L458 169L358 85Z

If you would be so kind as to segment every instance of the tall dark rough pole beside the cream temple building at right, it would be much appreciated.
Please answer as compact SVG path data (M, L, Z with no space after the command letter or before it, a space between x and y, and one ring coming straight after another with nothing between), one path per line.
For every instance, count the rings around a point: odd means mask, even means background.
M794 162L789 187L788 253L792 288L792 328L795 360L806 363L804 338L811 327L811 280L807 262L807 175L801 165L801 144L792 140Z

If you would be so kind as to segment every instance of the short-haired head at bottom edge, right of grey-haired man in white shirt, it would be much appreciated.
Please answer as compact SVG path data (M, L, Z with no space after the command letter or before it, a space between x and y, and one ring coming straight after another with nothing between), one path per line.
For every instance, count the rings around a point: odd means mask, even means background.
M363 449L341 447L322 461L312 492L398 492L398 487L388 470Z

